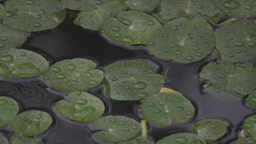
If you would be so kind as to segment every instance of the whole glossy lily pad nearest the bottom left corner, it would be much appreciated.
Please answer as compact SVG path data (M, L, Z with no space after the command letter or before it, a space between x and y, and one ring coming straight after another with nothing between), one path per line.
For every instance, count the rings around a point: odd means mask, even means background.
M13 132L21 132L23 136L34 136L45 132L51 125L51 116L40 110L27 110L14 117L10 122Z

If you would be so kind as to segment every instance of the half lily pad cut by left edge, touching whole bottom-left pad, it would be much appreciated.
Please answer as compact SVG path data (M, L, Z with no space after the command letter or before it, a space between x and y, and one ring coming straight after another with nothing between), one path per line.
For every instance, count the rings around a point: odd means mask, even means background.
M18 114L19 109L19 105L14 99L0 96L0 127L8 124Z

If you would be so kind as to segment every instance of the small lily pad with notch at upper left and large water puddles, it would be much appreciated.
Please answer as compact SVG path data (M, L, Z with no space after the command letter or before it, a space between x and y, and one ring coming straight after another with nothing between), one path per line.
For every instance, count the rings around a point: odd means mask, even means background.
M91 121L98 119L104 112L103 102L87 92L73 92L68 95L70 102L60 100L56 109L62 117L76 121Z

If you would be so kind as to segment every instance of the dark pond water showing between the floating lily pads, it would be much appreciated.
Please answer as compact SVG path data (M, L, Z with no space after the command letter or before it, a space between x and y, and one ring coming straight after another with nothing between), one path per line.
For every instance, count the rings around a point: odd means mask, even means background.
M30 38L20 48L36 51L46 57L51 64L65 59L86 58L95 61L98 69L102 69L115 61L142 60L158 67L158 73L165 75L165 87L181 92L194 104L195 116L184 124L174 124L158 127L148 123L148 138L157 142L165 136L177 132L192 132L195 121L203 119L219 119L228 123L229 129L217 142L227 144L237 139L245 117L255 114L255 110L245 105L244 99L236 101L220 101L207 93L203 93L198 80L200 68L207 62L215 60L212 55L205 60L192 64L178 64L173 61L157 60L151 56L146 46L122 46L114 44L105 38L104 34L92 32L73 24L71 13L57 28L43 32L31 33ZM170 69L168 70L168 68ZM168 71L167 71L168 70ZM105 115L125 115L137 121L143 119L140 114L139 101L115 101L105 97L100 86L87 92L98 96L106 106ZM58 92L47 87L42 81L42 75L0 81L1 96L10 96L19 102L20 112L28 109L38 109L48 112L53 117L53 124L46 132L37 136L44 144L99 144L102 143L92 137L96 132L90 127L91 122L76 122L62 118L54 104L65 99L68 93ZM14 134L9 125L0 127L8 139ZM216 144L212 142L209 144Z

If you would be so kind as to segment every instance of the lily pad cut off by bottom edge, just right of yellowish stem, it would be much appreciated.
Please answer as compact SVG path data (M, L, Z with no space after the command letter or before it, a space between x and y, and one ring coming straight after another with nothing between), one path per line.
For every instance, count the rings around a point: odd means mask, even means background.
M206 144L206 142L196 134L182 132L166 136L156 144Z

